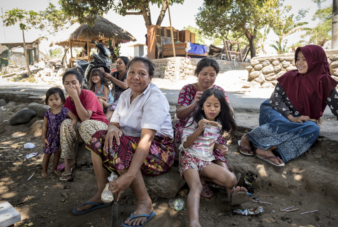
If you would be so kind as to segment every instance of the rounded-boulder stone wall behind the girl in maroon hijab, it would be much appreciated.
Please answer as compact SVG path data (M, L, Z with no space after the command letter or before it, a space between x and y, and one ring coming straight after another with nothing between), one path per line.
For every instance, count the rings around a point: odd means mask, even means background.
M338 50L325 50L330 64L331 76L338 81ZM248 80L244 88L272 88L277 78L285 72L297 69L294 54L255 57L250 60Z

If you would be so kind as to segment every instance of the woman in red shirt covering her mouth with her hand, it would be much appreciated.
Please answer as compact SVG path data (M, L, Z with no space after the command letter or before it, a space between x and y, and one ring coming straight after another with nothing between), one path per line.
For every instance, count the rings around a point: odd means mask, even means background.
M62 181L70 178L71 167L75 165L73 143L88 143L96 131L107 129L109 124L95 94L81 89L82 79L77 70L69 70L62 77L62 83L69 95L64 107L79 119L73 126L72 133L68 130L70 119L64 120L60 127L61 157L65 159L65 172L60 177Z

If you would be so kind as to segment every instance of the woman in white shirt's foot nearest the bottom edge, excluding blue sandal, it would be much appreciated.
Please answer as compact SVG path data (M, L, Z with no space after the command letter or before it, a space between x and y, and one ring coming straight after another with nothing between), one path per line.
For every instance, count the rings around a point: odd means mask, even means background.
M143 215L143 214L150 215L153 212L153 210L154 209L152 207L150 198L148 200L137 201L136 208L132 216L134 217L134 216ZM130 217L128 217L124 221L124 224L129 225L129 226L138 226L138 225L142 225L146 220L147 220L147 217L137 217L132 220L130 220Z

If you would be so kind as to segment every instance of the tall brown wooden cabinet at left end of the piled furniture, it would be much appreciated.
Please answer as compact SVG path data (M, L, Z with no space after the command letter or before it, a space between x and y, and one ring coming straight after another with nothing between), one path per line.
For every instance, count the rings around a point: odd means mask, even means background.
M156 56L158 53L158 45L170 44L171 33L170 27L161 27L158 25L150 25L147 27L147 44L148 44L148 58L156 59L159 56ZM178 30L172 29L174 42L178 41Z

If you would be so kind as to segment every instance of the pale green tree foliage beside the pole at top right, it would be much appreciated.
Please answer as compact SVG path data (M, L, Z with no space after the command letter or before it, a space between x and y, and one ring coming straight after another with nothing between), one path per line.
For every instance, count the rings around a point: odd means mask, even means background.
M326 8L320 8L319 4L312 21L316 19L319 19L319 23L312 30L308 30L306 34L300 36L301 38L309 37L309 44L317 44L320 40L331 39L332 4Z

